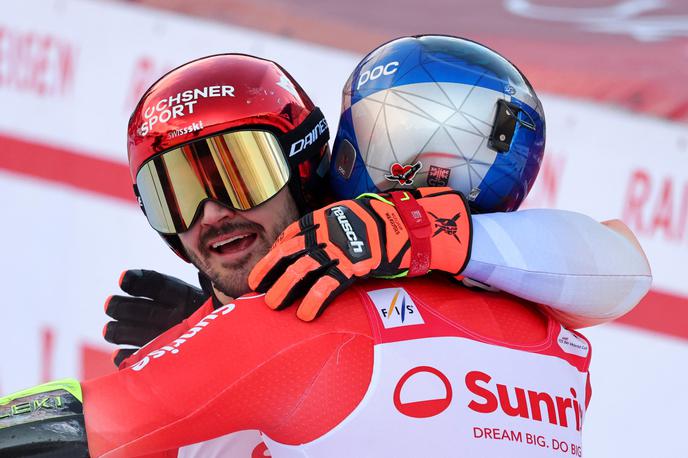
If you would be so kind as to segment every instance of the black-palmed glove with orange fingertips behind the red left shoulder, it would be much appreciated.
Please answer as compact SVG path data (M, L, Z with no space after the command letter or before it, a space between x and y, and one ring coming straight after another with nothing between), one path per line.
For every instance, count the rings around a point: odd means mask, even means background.
M116 345L142 347L189 317L210 297L199 288L153 270L127 270L119 286L130 296L107 298L105 313L116 321L103 328L105 340ZM136 350L118 350L113 357L115 365L119 367Z

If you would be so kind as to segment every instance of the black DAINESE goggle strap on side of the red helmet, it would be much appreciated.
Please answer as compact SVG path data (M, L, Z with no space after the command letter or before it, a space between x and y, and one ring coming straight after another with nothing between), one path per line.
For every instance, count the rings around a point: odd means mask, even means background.
M298 164L320 152L329 140L330 131L325 116L320 108L315 107L294 130L281 136L280 143L287 161Z

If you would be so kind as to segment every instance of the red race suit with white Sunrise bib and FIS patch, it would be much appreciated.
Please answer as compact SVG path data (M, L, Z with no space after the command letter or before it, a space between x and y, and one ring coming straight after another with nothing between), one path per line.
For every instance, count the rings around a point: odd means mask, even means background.
M184 456L258 430L278 458L579 455L590 354L532 304L440 277L357 283L312 323L249 295L84 382L89 450Z

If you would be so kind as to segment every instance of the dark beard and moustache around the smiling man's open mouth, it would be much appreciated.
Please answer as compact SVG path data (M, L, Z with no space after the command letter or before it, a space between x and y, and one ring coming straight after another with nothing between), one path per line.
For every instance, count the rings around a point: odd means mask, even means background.
M201 257L197 256L192 250L187 250L187 255L191 263L203 272L213 283L215 289L222 294L232 298L247 294L251 292L248 286L248 276L251 270L270 251L270 247L282 231L298 217L298 214L294 213L296 212L295 208L293 212L290 210L288 209L286 212L276 215L276 218L279 219L276 220L269 234L263 226L252 222L234 223L230 221L221 226L210 228L199 237L200 246L198 251ZM209 259L211 256L211 252L208 249L208 241L213 237L237 230L247 230L256 234L256 240L253 242L250 251L240 259L222 263L220 268L209 265L206 262L206 259Z

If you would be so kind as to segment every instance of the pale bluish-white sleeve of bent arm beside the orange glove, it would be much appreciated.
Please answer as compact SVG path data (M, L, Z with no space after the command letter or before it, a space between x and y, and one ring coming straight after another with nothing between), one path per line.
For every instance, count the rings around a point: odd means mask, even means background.
M601 223L563 210L473 215L463 275L590 326L625 314L652 282L644 253Z

